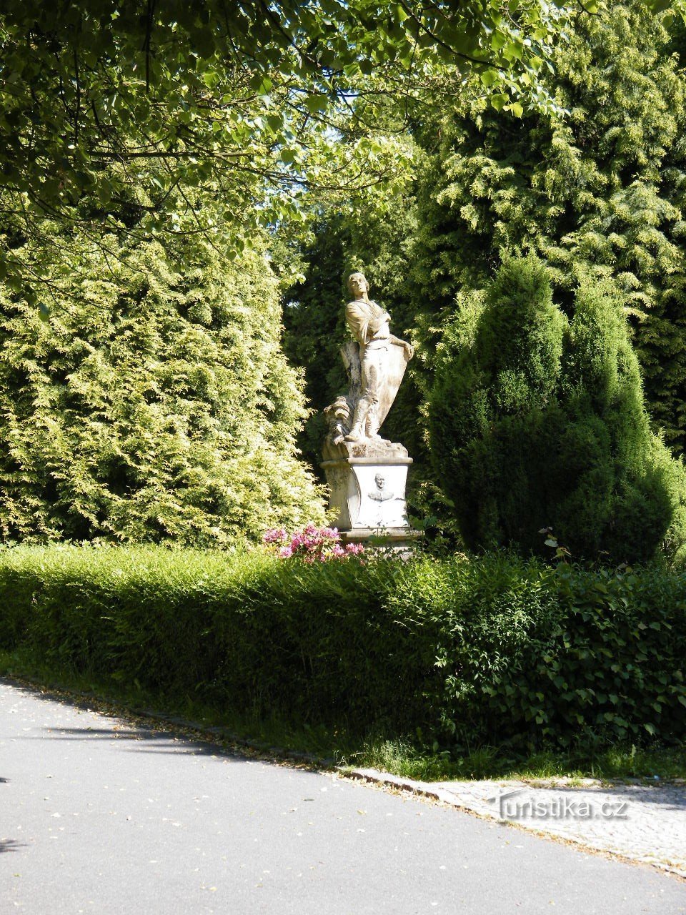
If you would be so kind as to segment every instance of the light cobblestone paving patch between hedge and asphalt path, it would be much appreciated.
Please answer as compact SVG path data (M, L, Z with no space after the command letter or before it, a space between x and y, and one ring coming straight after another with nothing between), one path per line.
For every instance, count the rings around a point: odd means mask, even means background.
M372 769L346 774L686 877L682 783L608 784L585 779L573 787L565 780L423 782Z

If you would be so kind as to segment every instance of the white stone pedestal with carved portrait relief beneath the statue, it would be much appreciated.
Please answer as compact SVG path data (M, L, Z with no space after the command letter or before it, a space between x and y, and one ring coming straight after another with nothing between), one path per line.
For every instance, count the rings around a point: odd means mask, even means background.
M349 451L362 450L349 448ZM388 449L373 457L336 457L322 464L331 490L329 505L338 509L333 526L344 543L385 546L409 554L421 536L407 520L405 486L412 458Z

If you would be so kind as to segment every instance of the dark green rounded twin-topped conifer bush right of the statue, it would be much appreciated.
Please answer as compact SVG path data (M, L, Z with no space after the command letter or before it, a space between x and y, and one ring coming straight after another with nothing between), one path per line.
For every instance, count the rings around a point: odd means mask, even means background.
M568 320L544 264L510 258L447 328L430 447L466 544L645 562L683 543L686 478L649 428L613 285L582 276Z

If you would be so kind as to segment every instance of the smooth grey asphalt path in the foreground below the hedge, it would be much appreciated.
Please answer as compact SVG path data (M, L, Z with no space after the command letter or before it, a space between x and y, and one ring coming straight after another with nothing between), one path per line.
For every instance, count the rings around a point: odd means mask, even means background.
M0 683L0 911L686 913L686 884Z

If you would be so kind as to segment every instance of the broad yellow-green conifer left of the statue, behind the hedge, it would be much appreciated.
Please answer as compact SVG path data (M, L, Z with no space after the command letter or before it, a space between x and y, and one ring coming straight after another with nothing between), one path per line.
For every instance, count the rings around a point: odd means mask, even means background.
M2 539L227 544L320 519L263 255L192 234L72 252L48 318L0 289Z

